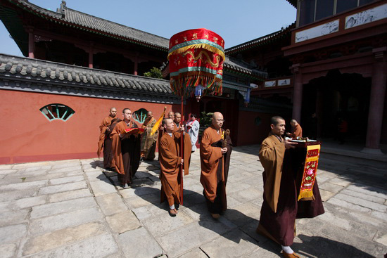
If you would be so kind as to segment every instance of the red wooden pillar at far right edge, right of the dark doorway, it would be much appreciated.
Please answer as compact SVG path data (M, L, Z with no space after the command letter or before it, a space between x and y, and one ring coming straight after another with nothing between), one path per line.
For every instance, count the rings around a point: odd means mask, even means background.
M381 127L383 122L384 96L386 96L387 65L384 46L374 49L374 66L372 67L371 96L369 99L369 114L367 137L363 153L383 154L380 150Z

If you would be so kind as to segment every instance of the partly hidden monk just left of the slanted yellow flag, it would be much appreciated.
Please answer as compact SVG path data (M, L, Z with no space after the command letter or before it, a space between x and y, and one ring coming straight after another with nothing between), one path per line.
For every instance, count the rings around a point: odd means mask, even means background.
M158 131L151 136L153 126L156 124L156 119L153 117L152 111L146 114L146 120L142 124L144 133L141 136L141 159L153 160L155 156L156 143L158 139Z

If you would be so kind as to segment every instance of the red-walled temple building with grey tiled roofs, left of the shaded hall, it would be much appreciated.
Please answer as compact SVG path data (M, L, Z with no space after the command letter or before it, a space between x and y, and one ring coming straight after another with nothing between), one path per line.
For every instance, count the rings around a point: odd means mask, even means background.
M0 18L25 57L0 54L0 164L96 157L99 124L111 107L179 111L166 79L144 77L165 67L169 39L72 10L49 11L25 0L0 0ZM184 115L221 111L234 145L260 143L269 117L290 105L250 98L267 72L238 58L224 61L222 96L184 100ZM17 110L17 111L15 111ZM262 131L260 130L262 128ZM257 134L260 131L260 134Z

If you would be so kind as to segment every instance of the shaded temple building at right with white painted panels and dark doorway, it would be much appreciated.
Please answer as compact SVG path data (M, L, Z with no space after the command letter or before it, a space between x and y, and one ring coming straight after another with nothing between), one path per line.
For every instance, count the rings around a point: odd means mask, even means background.
M296 23L226 50L267 70L253 96L291 103L291 117L310 133L347 141L362 152L382 154L387 143L387 1L288 0ZM306 135L307 136L307 135Z

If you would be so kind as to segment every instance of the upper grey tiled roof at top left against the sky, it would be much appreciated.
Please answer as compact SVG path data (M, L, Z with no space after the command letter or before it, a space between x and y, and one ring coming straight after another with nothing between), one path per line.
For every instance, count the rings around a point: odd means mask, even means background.
M17 4L18 6L23 6L23 8L31 11L32 13L43 15L48 19L63 22L66 25L70 24L74 25L75 27L85 27L93 31L96 30L103 34L111 34L113 36L123 37L124 39L137 41L140 44L144 43L147 45L155 46L158 49L167 50L169 46L169 39L164 37L160 37L141 30L136 30L132 27L120 25L118 23L104 20L87 13L81 13L80 11L75 11L67 7L63 8L64 15L62 15L62 13L46 10L25 0L8 1L11 1L13 4Z

